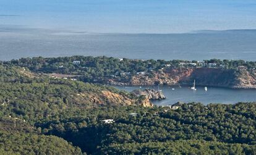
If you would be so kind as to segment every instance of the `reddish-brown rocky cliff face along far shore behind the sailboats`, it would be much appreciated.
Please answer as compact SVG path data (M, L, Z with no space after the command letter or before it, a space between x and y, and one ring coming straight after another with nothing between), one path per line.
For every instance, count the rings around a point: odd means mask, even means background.
M196 80L197 85L220 86L228 88L256 88L256 73L246 69L164 69L153 72L153 77L134 76L132 85L191 85Z

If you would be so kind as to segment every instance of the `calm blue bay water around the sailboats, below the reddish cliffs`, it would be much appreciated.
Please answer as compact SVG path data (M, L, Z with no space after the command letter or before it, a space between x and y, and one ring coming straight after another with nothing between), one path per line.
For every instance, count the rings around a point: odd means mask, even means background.
M156 86L115 86L120 90L132 91L135 89L152 88L157 90ZM174 88L175 90L172 90ZM232 90L227 88L208 87L205 91L204 87L197 87L197 90L191 90L189 86L162 86L166 99L161 101L153 101L156 105L169 105L182 101L184 103L200 102L203 104L223 103L234 104L238 102L253 102L256 101L256 90Z

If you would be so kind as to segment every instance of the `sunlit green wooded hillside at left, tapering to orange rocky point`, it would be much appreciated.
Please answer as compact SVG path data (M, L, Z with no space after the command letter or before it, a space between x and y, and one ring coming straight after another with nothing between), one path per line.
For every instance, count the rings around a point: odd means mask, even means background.
M35 123L62 117L67 111L143 102L114 88L49 78L13 65L0 65L0 88L0 150L4 154L80 154L80 149L61 138L41 135L44 130Z

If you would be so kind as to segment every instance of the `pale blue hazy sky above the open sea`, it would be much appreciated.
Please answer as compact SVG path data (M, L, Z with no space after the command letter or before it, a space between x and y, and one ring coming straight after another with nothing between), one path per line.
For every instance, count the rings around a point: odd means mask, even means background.
M0 25L98 33L256 29L256 1L0 0Z

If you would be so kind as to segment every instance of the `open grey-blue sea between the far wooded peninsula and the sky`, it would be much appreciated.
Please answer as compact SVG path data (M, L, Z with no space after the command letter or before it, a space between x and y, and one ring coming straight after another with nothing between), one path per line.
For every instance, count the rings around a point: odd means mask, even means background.
M182 34L99 34L0 26L0 60L112 56L130 59L256 61L256 30Z

